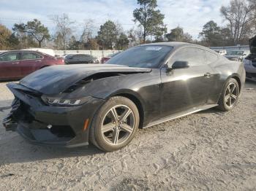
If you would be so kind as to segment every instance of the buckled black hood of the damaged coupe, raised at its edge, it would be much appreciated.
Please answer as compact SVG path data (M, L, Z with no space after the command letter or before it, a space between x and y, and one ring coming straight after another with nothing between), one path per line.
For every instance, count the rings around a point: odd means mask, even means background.
M35 71L20 80L20 85L43 94L57 94L86 77L99 73L136 74L150 72L151 69L131 68L113 64L79 64L50 66Z

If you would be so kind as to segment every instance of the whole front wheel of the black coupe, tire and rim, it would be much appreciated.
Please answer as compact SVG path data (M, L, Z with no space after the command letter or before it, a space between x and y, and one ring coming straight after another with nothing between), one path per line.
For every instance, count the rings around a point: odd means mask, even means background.
M110 98L95 114L91 123L90 141L105 152L121 149L132 141L138 130L140 115L128 98Z

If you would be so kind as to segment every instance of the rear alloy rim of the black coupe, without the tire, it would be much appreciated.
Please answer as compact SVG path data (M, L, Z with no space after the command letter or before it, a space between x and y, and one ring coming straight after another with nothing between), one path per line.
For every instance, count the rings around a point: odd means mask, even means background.
M225 104L228 107L232 107L236 104L237 99L238 99L238 86L232 82L227 86L227 89L225 92Z

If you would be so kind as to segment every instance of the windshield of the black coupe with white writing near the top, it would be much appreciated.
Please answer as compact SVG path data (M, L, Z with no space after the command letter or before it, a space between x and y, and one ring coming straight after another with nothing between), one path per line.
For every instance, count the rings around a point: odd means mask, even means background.
M148 45L132 47L124 52L120 52L106 63L156 69L171 50L173 50L173 47L170 46Z

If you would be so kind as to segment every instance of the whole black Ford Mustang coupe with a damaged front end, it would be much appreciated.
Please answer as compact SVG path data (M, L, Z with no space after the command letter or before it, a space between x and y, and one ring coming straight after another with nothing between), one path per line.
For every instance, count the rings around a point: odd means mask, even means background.
M138 128L217 106L236 106L242 63L195 44L132 47L106 64L50 66L7 86L15 95L4 119L32 143L104 151L126 146Z

